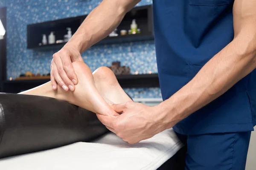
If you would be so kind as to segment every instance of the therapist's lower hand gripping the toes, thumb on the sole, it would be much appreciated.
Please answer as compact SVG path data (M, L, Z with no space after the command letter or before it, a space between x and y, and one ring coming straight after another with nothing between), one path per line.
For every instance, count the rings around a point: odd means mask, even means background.
M97 117L109 130L129 144L149 139L166 129L157 107L126 102L112 105L112 108L122 114L116 117L97 114Z

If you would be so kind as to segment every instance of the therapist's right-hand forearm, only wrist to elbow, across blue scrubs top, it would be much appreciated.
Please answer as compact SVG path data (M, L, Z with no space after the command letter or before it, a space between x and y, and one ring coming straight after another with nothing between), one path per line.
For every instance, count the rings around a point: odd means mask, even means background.
M224 94L256 68L256 49L252 41L236 37L188 84L158 106L164 113L162 119L169 121L169 127Z

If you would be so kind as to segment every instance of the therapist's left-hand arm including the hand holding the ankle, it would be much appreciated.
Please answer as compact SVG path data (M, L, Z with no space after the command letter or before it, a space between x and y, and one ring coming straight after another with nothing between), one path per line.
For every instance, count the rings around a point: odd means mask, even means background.
M75 90L78 79L71 64L83 61L81 53L107 37L122 21L125 14L140 0L103 0L86 17L67 44L53 55L51 65L52 88L57 83L64 91Z

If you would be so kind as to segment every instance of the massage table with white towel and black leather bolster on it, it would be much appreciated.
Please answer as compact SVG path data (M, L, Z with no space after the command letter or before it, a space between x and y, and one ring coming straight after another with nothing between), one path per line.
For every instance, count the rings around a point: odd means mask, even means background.
M0 94L1 170L182 170L185 153L172 129L128 144L68 102Z

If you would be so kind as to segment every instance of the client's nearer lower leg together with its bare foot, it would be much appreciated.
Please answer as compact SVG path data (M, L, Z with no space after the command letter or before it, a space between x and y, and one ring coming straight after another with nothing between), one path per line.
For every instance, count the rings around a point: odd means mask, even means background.
M44 85L38 86L28 91L24 91L20 94L53 97L70 102L74 105L78 105L79 107L94 113L105 115L116 114L113 109L111 109L111 107L105 102L95 87L90 68L84 62L73 62L73 66L79 80L75 91L65 92L61 89L61 87L58 87L57 91L53 91L51 83L47 82Z

